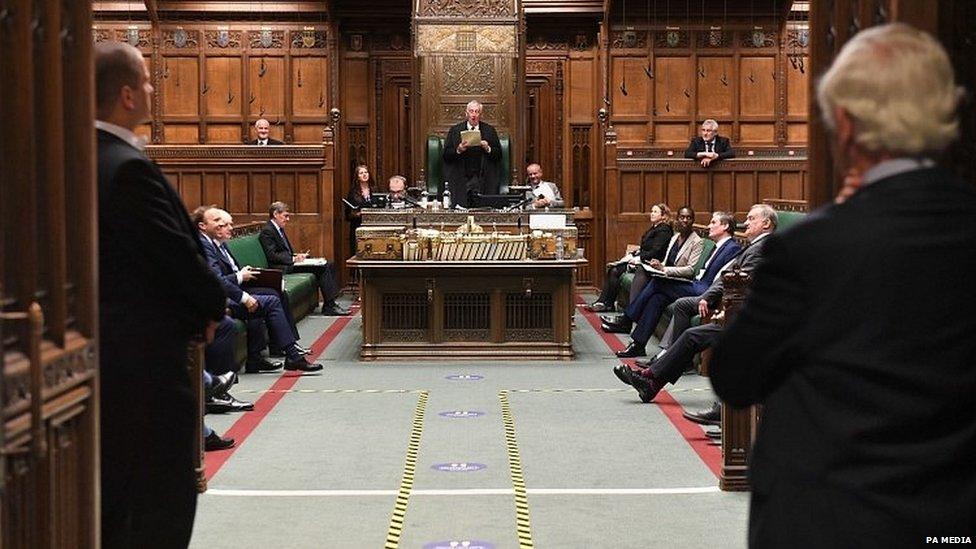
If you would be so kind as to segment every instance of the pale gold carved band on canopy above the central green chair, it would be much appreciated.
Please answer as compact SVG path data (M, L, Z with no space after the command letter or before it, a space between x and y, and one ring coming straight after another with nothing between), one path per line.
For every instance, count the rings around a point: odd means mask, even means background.
M417 54L492 53L515 56L514 26L418 25Z

